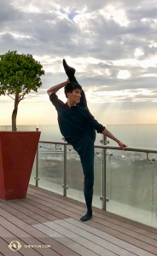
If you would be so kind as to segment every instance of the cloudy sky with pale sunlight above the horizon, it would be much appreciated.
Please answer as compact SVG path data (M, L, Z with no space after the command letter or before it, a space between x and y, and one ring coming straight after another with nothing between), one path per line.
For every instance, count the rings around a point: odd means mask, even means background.
M100 123L157 123L155 0L1 0L0 54L9 50L32 54L45 71L38 94L20 102L18 125L57 124L46 90L67 79L63 58ZM13 106L0 97L0 125L10 125Z

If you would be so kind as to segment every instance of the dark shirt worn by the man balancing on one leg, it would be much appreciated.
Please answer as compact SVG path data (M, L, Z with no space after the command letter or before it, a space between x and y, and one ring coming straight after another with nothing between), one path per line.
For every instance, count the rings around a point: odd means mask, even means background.
M80 102L70 108L67 103L58 99L55 93L49 96L49 100L56 108L61 134L67 143L73 144L81 137L90 137L95 142L96 131L102 133L105 129L105 126L99 124L87 108L84 90L81 91Z

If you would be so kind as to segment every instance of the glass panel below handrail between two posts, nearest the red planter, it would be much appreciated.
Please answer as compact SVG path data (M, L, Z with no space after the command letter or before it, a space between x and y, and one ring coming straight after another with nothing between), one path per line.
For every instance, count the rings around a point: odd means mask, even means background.
M39 143L38 187L63 195L64 148L62 145Z

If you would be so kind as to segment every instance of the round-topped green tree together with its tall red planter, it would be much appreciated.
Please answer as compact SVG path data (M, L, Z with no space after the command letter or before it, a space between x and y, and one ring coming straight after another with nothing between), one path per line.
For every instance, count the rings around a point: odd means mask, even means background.
M43 66L32 55L0 55L0 96L15 101L12 131L0 131L0 198L5 201L26 197L40 132L16 131L16 116L20 101L42 86L42 75Z

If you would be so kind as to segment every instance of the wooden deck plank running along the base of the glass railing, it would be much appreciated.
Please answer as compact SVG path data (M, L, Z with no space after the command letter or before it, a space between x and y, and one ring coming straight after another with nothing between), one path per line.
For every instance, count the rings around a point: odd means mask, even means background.
M47 195L46 193L41 192L41 191L39 191L39 193L37 193L37 191L35 191L35 189L30 189L30 190L32 191L32 193L34 193L34 196L36 196L36 194L38 194L37 196L40 196L40 195L41 196L45 196L46 200L47 199L48 200L49 199L53 200L53 203L55 205L57 205L57 206L60 206L60 203L61 203L65 209L67 209L67 207L72 207L72 208L69 208L69 209L73 210L73 212L80 212L80 214L83 214L83 212L82 212L82 210L84 210L83 207L76 207L76 205L74 203L66 203L63 198L62 199L60 198L58 200L55 196ZM44 197L42 197L42 198L44 198ZM157 234L155 234L153 232L150 232L148 230L144 230L144 229L142 229L140 227L136 227L136 226L133 226L131 224L124 223L124 221L111 218L111 217L109 217L107 215L104 216L104 214L99 213L99 212L93 212L93 213L94 213L94 216L96 216L98 218L102 218L102 219L105 218L105 220L107 220L108 222L111 222L113 224L117 224L117 225L119 225L121 227L124 227L124 228L126 228L128 230L135 231L135 232L140 233L140 234L142 234L144 236L148 236L150 238L153 238L153 239L157 240Z

